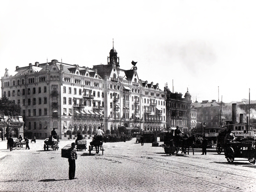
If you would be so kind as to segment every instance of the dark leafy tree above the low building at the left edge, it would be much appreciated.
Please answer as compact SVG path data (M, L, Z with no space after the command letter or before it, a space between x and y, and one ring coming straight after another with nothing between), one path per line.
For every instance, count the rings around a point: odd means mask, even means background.
M20 115L20 106L15 102L10 101L7 97L0 98L0 109L5 115L18 116Z

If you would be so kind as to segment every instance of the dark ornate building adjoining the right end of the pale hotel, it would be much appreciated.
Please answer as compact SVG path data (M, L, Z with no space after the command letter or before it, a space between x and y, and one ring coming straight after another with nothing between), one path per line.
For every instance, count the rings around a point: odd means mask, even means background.
M191 94L187 91L185 98L178 92L171 92L168 86L165 87L166 93L166 110L167 110L167 130L179 126L184 133L189 133L191 130ZM193 109L195 115L196 110ZM195 120L195 118L193 118ZM193 121L193 125L196 122Z

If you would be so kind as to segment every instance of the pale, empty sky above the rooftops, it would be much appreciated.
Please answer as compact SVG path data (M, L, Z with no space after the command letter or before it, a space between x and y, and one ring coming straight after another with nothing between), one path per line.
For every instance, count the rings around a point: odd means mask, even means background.
M0 0L0 76L29 63L122 69L192 102L256 100L253 0ZM250 90L250 94L249 94Z

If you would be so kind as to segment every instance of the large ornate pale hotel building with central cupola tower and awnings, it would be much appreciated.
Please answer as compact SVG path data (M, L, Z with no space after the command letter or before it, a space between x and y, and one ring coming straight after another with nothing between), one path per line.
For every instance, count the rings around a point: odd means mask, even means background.
M1 78L2 97L21 106L24 126L37 138L47 138L53 128L60 138L78 130L87 134L101 124L104 131L164 129L165 92L138 79L135 65L121 69L113 48L107 64L93 68L58 60L17 66L15 75L6 69Z

